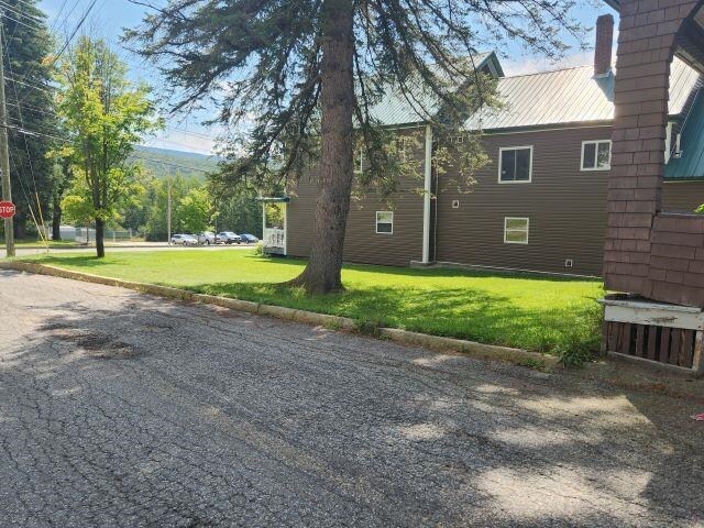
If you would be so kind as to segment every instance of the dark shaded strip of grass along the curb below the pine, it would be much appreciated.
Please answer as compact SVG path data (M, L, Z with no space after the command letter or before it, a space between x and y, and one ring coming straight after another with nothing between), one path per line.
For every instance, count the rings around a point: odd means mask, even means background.
M510 297L469 287L436 292L375 286L327 296L310 296L280 284L202 284L188 289L538 352L598 350L601 311L596 302L528 310Z

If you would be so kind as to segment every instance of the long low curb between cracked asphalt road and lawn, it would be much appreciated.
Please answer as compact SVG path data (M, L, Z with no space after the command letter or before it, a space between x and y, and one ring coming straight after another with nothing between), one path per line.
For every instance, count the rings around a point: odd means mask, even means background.
M336 330L356 331L359 329L359 324L356 323L356 321L346 317L317 314L314 311L286 308L283 306L263 305L260 302L232 299L229 297L197 294L187 289L173 288L169 286L157 286L154 284L138 283L132 280L122 280L120 278L103 277L100 275L92 275L90 273L74 272L61 267L47 266L46 264L36 264L32 262L21 261L6 261L0 262L0 270L12 270L15 272L50 275L53 277L82 280L86 283L102 284L106 286L117 286L144 294L166 297L169 299L215 305L232 310L267 316L276 319L302 322L307 324L317 324L327 328L333 328ZM387 339L399 344L422 346L435 352L459 352L472 358L483 360L529 364L530 366L543 369L553 369L560 363L559 358L540 354L538 352L529 352L522 349L512 349L494 344L477 343L474 341L464 341L454 338L430 336L427 333L411 332L397 328L378 328L372 333L381 339Z

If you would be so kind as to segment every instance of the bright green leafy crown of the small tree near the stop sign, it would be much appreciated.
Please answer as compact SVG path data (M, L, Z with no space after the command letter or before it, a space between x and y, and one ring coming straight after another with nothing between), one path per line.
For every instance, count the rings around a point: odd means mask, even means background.
M105 223L142 190L139 165L130 162L134 144L160 127L146 86L133 87L127 67L102 41L81 37L61 62L57 110L67 142L53 156L72 166L75 182L64 200L91 209ZM68 200L68 201L67 201ZM101 253L100 240L98 254Z

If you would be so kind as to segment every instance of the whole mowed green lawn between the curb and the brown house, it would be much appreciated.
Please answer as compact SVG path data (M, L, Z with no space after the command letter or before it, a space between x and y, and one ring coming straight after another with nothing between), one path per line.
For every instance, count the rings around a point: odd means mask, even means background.
M348 265L346 290L309 296L280 283L305 261L253 251L160 251L28 257L64 268L353 318L360 323L564 353L595 350L602 283L488 272Z

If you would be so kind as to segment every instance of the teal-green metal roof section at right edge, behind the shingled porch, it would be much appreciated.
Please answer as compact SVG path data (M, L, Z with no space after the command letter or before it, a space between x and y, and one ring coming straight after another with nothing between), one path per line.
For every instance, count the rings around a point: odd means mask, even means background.
M671 157L664 167L669 180L704 178L704 89L696 94L692 108L683 123L681 157Z

